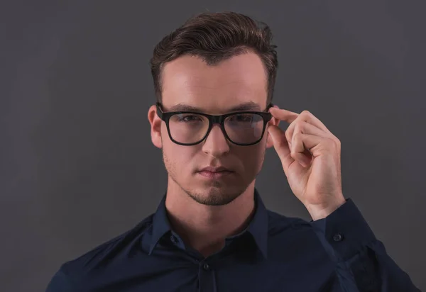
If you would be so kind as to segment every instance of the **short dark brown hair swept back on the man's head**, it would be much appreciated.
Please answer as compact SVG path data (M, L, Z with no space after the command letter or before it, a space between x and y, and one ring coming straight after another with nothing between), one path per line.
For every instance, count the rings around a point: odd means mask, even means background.
M182 55L192 55L214 65L236 55L255 52L266 69L267 103L270 103L278 69L276 45L271 45L271 41L271 29L266 23L241 13L207 12L193 16L155 46L150 64L157 101L162 101L161 72L165 63Z

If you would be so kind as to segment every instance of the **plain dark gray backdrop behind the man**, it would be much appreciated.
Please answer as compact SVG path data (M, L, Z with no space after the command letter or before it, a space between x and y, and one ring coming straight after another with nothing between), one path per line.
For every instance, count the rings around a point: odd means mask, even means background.
M155 211L166 173L148 60L188 17L225 10L271 26L275 103L339 137L344 195L426 290L424 3L3 1L0 291L43 291L62 262ZM310 220L273 149L257 187Z

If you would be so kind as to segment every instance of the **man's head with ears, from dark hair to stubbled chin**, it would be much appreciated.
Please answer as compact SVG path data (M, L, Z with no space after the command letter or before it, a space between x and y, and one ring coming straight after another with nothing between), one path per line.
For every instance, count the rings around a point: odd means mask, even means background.
M266 112L278 67L271 39L268 26L238 13L190 18L155 47L151 71L158 108L210 115ZM162 120L156 111L157 106L148 111L151 139L163 150L169 184L205 205L230 203L253 183L272 146L267 123L278 124L264 119L267 115L231 116L224 119L224 135L219 124L207 129L206 116L185 113ZM202 172L204 167L229 172Z

